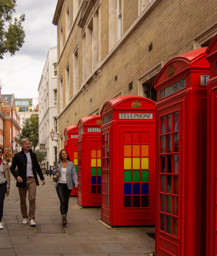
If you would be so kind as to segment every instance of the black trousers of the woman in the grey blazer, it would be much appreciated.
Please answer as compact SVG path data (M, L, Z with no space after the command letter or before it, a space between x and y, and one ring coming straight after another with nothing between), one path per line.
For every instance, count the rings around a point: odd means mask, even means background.
M60 212L61 215L67 214L68 212L68 201L71 194L71 189L67 188L66 183L59 183L57 188L57 195L60 201Z

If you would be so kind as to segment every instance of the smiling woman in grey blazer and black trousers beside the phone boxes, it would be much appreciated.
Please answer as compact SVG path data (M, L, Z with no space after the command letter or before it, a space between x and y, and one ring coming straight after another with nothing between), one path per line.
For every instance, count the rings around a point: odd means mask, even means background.
M59 171L59 177L56 182L56 191L60 201L60 212L62 215L62 226L67 225L68 201L71 189L78 187L78 176L73 162L69 161L65 149L60 150L59 164L53 170L53 175Z

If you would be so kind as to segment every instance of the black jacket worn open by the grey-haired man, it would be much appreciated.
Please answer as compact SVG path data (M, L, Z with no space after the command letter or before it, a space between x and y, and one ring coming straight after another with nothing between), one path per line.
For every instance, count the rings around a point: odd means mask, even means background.
M32 172L33 172L36 184L39 185L37 173L41 180L44 180L45 178L43 176L36 154L31 149L29 149L29 153L30 153L31 163L32 163ZM16 167L18 171L16 171ZM15 179L17 179L18 176L20 176L23 179L22 183L19 183L17 181L17 187L26 186L26 168L27 168L27 157L24 151L22 150L14 155L14 158L12 160L12 165L11 165L11 173L13 174Z

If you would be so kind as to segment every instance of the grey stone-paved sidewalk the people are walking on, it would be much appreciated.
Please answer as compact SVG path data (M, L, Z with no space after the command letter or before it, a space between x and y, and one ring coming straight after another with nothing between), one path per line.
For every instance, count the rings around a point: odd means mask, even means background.
M155 241L146 232L154 228L111 229L99 219L101 209L81 209L70 197L68 225L61 226L59 199L52 177L37 187L37 228L22 224L18 189L11 176L10 196L4 205L4 230L0 230L1 256L143 256L152 255Z

